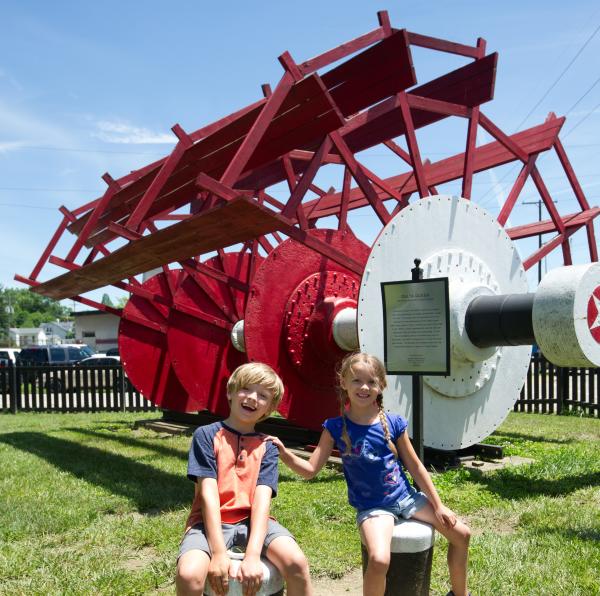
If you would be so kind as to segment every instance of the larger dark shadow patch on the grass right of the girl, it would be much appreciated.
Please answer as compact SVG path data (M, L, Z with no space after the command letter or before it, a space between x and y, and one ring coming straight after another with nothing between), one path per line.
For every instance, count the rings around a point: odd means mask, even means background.
M597 486L600 483L600 472L547 479L535 478L532 474L523 473L522 469L505 469L490 475L482 474L479 470L469 470L467 479L483 484L503 499L520 500L542 495L564 497L581 488Z

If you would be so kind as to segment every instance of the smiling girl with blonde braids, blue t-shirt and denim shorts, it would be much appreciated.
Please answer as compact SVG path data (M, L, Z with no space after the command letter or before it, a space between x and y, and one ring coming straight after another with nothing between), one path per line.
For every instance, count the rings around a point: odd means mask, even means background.
M356 522L369 553L363 594L385 592L390 544L400 517L427 522L448 539L448 568L452 590L448 596L467 596L467 553L470 530L445 507L425 466L406 433L407 421L383 410L387 383L382 362L369 354L348 355L339 371L340 416L329 418L308 461L288 451L273 437L282 461L304 478L313 478L332 449L342 454L348 500L356 508ZM416 492L404 474L410 472L423 492Z

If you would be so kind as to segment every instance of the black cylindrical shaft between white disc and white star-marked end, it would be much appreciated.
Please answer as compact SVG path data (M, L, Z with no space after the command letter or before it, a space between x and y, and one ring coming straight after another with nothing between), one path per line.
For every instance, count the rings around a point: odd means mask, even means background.
M535 343L531 317L534 296L503 294L474 298L465 316L471 342L479 348Z

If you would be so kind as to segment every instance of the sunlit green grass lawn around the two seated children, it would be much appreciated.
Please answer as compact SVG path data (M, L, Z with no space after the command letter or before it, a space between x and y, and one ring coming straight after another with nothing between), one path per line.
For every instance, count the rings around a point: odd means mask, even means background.
M174 593L193 485L189 437L133 430L152 414L0 417L0 593ZM600 421L514 414L488 442L534 463L435 474L473 529L476 595L600 594ZM274 515L315 576L360 564L341 473L311 482L281 468ZM438 539L432 594L448 589Z

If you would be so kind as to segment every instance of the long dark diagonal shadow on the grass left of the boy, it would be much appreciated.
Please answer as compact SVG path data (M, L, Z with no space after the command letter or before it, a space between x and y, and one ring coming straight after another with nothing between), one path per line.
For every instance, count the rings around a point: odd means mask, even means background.
M193 499L193 483L185 476L158 470L96 447L36 432L0 435L0 442L44 459L76 478L124 496L142 513L189 506Z

